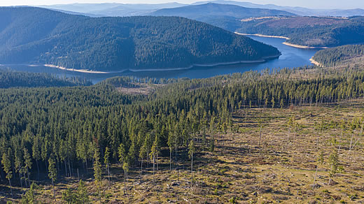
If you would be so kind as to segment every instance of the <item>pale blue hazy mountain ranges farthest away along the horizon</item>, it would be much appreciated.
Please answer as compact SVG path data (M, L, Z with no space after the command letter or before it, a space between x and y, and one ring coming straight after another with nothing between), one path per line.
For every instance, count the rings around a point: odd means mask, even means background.
M246 8L265 8L284 10L295 15L316 15L316 16L353 16L364 15L363 9L310 9L302 7L276 6L274 4L256 4L240 1L199 1L191 5L202 5L206 3L220 3L242 6ZM190 6L182 3L160 3L160 4L123 4L123 3L73 3L64 5L41 6L43 8L52 8L57 10L67 10L76 13L85 13L85 15L97 16L131 16L131 15L149 15L156 10L163 8L178 8Z

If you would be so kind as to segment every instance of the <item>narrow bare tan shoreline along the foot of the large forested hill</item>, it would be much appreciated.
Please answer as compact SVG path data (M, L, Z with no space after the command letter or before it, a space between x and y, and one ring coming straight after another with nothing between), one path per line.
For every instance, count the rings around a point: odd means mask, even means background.
M181 70L188 70L193 67L214 67L214 66L224 66L224 65L234 65L234 64L254 64L254 63L263 63L270 59L275 59L277 57L281 56L280 54L262 57L262 59L258 60L245 60L245 61L230 61L230 62L219 62L214 64L193 64L186 67L181 68L144 68L144 69L124 69L123 71L90 71L87 69L75 69L75 68L66 68L62 66L56 66L53 64L42 64L43 66L50 67L50 68L58 68L64 71L73 71L78 73L92 73L92 74L112 74L112 73L125 73L127 71L131 72L141 72L141 71L181 71Z

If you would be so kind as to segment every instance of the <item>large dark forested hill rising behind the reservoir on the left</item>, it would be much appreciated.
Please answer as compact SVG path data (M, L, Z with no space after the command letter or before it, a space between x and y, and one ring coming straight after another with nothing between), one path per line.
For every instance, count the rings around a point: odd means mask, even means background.
M43 8L0 8L0 64L97 71L181 68L259 60L272 46L183 17L85 17Z

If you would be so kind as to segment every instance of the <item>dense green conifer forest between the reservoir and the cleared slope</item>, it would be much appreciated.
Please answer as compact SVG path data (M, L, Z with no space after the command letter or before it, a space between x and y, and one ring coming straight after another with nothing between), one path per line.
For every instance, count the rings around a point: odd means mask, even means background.
M54 166L58 177L74 176L77 168L87 172L95 155L105 154L110 163L123 163L126 173L144 162L158 162L162 150L175 163L194 145L213 151L216 133L234 129L231 115L239 108L314 105L364 94L364 73L295 79L299 71L183 80L150 96L120 94L107 83L3 89L0 154L8 169L3 166L1 177L10 174L10 180L29 186L29 175L36 179L40 170Z

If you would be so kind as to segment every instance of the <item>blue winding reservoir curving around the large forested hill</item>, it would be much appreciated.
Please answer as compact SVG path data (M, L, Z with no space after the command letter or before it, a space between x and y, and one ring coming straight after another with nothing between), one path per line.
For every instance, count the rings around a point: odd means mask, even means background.
M224 75L230 73L243 73L246 71L261 71L265 68L295 68L300 66L311 65L309 59L318 51L315 49L293 48L284 45L285 39L282 38L266 38L259 36L249 36L255 41L260 41L267 45L272 45L282 53L277 59L272 59L264 63L252 64L235 64L214 67L193 67L187 70L178 71L143 71L143 72L125 72L113 74L100 73L76 73L73 71L63 71L58 68L50 68L45 66L27 66L27 65L6 65L16 71L28 71L35 73L51 73L66 77L80 77L91 80L93 83L100 82L106 78L117 75L132 75L137 78L210 78L216 75Z

